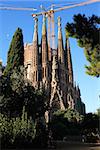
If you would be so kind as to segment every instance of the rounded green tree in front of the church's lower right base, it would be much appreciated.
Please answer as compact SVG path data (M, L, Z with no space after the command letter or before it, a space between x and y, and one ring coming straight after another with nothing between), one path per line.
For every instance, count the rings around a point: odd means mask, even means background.
M73 109L56 111L51 121L54 139L62 140L67 135L79 135L82 119L83 116Z

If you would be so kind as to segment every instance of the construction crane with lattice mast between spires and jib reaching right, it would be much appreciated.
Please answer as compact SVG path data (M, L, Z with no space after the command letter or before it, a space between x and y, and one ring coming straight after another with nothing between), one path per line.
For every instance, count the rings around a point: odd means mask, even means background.
M40 12L40 13L36 13L36 14L32 14L32 17L38 17L38 16L41 16L41 15L46 15L48 17L48 45L50 47L50 27L52 27L52 49L53 50L56 50L56 45L55 45L55 32L54 32L54 13L55 12L58 12L58 11L62 11L62 10L65 10L65 9L70 9L70 8L74 8L74 7L79 7L79 6L85 6L85 5L89 5L89 4L92 4L92 3L95 3L95 2L100 2L100 0L88 0L88 1L85 1L85 2L81 2L81 3L75 3L75 4L72 4L72 5L69 5L69 6L64 6L64 7L61 7L61 8L58 8L58 9L54 9L54 6L51 5L51 9L46 11L44 10L43 8L43 12ZM51 26L50 26L51 24Z

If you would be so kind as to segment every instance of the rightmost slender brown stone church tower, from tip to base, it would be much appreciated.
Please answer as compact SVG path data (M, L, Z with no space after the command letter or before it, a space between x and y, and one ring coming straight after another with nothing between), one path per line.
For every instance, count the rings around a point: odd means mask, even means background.
M65 45L65 53L66 53L66 82L67 82L67 104L68 108L75 108L75 88L73 81L73 67L72 67L72 58L71 58L71 50L69 39L66 34L66 45Z

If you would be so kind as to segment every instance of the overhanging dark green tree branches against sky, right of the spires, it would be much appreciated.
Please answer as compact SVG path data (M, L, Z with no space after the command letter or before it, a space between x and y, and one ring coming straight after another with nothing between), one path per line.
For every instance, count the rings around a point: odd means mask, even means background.
M92 76L100 76L100 40L99 24L100 17L92 15L74 15L73 23L67 23L67 36L76 38L80 47L84 48L86 59L89 66L86 67L86 73Z

